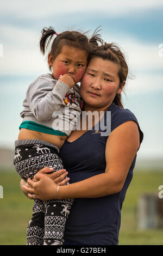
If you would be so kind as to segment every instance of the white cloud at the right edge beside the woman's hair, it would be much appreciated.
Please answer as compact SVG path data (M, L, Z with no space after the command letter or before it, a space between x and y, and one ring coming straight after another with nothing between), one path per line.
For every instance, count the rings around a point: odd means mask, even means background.
M105 33L103 38L106 42L115 42L121 48L126 56L129 68L136 72L163 68L163 44L162 48L159 48L161 42L160 44L142 42L129 34L109 34L108 36Z

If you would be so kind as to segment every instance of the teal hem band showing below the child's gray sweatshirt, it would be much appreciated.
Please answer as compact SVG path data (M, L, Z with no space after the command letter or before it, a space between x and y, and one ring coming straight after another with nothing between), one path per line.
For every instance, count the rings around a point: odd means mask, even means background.
M54 130L53 128L48 127L46 125L37 124L33 121L23 121L23 123L21 123L21 125L19 126L20 130L21 130L21 128L25 128L25 129L33 130L33 131L37 131L37 132L43 132L43 133L47 133L47 134L52 134L52 135L67 136L66 133L64 133L64 132Z

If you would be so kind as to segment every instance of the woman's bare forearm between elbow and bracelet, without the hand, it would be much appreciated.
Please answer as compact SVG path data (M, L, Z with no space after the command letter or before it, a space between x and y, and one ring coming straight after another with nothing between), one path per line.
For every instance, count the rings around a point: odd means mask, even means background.
M59 199L65 198L96 198L120 192L123 182L118 182L115 175L102 173L89 179L67 186L59 187Z

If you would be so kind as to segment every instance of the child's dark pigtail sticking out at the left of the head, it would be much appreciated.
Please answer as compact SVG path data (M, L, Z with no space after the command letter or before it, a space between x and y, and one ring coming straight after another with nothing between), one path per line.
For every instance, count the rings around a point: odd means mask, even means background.
M47 50L49 43L52 40L53 35L54 34L57 35L57 33L54 31L54 28L52 28L52 27L43 28L41 33L42 33L42 36L40 39L40 51L42 52L42 54L45 54L45 51Z

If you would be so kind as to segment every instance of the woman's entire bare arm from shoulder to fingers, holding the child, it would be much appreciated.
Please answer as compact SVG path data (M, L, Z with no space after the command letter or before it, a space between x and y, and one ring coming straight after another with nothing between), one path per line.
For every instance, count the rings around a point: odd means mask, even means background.
M122 190L128 170L140 145L140 134L135 121L126 121L111 132L106 142L105 173L91 176L67 186L58 187L51 179L36 174L39 180L28 179L25 189L30 198L35 194L41 200L65 198L97 198ZM59 189L59 191L58 191Z

